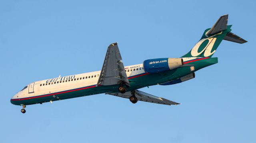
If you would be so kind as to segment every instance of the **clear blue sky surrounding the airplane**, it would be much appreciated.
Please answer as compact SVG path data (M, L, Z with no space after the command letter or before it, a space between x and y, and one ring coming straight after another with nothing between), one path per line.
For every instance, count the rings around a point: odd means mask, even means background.
M0 142L256 142L255 5L232 1L0 1ZM30 82L101 69L110 43L124 65L180 57L229 14L245 44L222 41L219 63L196 78L141 90L182 103L130 103L98 94L27 106L10 98Z

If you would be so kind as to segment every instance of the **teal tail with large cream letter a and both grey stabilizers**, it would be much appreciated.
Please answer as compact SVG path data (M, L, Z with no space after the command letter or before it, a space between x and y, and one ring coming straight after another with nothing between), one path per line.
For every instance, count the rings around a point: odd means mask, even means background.
M241 44L246 43L246 40L230 32L231 26L228 25L228 14L221 16L212 28L204 31L192 50L182 57L212 57L223 39Z

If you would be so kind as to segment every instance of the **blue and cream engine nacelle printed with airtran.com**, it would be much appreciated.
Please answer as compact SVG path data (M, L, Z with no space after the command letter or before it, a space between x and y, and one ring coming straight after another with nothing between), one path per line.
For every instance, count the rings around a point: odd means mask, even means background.
M148 59L143 62L144 71L158 73L176 69L183 65L182 58L158 58Z

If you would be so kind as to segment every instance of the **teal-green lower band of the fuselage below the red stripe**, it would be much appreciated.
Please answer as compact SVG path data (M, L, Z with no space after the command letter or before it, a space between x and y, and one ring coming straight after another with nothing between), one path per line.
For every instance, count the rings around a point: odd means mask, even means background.
M166 72L160 72L155 74L146 74L143 76L138 76L135 78L129 79L130 87L126 87L128 91L143 88L146 86L152 86L156 84L161 84L164 82L176 80L178 78L181 78L183 76L186 76L190 73L193 73L195 71L198 71L204 67L208 67L210 65L218 63L218 58L208 58L203 59L200 61L194 61L188 64L183 65L182 67L179 67L177 69L173 69ZM194 67L194 71L191 71L190 67ZM31 104L38 104L38 103L44 103L44 102L50 102L50 101L58 101L58 100L64 100L69 98L76 98L76 97L82 97L82 96L88 96L88 95L94 95L94 94L101 94L101 93L107 93L107 92L118 92L117 88L119 85L113 85L113 86L97 86L92 88L87 88L83 90L76 90L72 92L67 93L61 93L56 94L52 93L50 96L44 96L39 98L32 98L32 99L26 99L26 100L16 100L12 101L11 103L14 105L31 105ZM43 95L42 95L43 96Z

